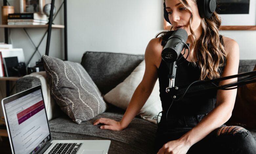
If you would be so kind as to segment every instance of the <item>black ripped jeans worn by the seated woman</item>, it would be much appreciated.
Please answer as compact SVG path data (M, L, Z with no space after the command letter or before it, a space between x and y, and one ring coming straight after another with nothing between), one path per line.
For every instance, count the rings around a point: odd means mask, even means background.
M167 142L179 139L203 119L206 114L196 116L162 115L158 124L155 152ZM256 141L242 127L226 126L213 130L201 141L192 145L187 154L256 154Z

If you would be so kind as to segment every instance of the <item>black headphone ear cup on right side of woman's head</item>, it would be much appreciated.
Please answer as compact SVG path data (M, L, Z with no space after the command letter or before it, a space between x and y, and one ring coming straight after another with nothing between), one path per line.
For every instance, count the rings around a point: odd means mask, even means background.
M216 9L215 0L197 0L198 12L201 18L210 18Z

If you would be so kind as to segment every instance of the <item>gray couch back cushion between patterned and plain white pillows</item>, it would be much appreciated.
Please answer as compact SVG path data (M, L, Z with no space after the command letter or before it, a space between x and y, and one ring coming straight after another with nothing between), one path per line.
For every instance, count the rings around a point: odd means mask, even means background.
M85 52L81 65L102 94L123 82L144 59L144 55L112 52Z

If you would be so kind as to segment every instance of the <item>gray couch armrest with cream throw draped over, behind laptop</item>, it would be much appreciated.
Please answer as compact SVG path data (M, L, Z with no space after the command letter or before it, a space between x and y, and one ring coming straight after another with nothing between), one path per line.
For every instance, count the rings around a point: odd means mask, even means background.
M44 97L44 103L46 107L48 120L57 118L61 114L59 106L51 96L49 84L47 83L46 72L36 72L24 76L23 78L16 81L16 91L21 92L29 88L41 85L42 93Z

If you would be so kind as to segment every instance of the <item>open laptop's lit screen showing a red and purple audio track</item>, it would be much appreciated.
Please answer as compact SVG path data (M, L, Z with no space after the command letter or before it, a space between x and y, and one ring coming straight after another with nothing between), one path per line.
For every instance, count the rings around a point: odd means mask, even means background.
M50 140L41 88L4 104L15 154L36 153Z

